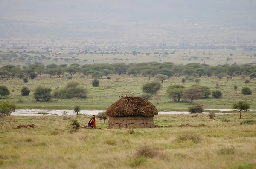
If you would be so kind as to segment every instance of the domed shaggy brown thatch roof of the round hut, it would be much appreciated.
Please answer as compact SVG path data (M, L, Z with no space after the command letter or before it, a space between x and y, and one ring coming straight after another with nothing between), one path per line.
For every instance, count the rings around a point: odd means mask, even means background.
M119 116L154 116L158 114L156 107L141 97L123 97L113 103L106 114L112 117Z

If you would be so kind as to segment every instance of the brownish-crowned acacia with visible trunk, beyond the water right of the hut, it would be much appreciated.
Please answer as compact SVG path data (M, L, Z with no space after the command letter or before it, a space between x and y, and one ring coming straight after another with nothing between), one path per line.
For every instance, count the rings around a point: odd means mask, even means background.
M194 99L200 99L202 97L203 89L199 86L189 87L183 90L183 98L191 100L193 104Z

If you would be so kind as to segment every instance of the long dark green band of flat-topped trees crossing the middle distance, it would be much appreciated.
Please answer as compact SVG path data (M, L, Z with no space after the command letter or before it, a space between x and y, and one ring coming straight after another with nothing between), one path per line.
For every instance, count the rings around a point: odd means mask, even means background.
M115 64L91 64L91 65L79 65L78 63L56 65L54 63L45 66L39 62L34 64L27 64L27 66L13 66L6 65L0 68L0 78L31 78L34 79L38 75L41 77L45 74L47 77L64 76L65 73L70 74L73 78L75 74L80 76L91 75L93 78L102 78L102 76L107 77L110 74L127 74L129 76L143 76L143 77L155 77L157 74L165 75L159 76L159 80L163 82L167 77L172 76L186 76L188 77L201 77L201 76L214 76L218 79L226 78L231 79L234 76L240 76L245 78L249 76L250 78L256 77L256 65L244 64L238 65L218 65L209 66L207 64L200 63L189 63L186 65L175 65L171 62L168 63L131 63L126 65L125 63L115 63Z

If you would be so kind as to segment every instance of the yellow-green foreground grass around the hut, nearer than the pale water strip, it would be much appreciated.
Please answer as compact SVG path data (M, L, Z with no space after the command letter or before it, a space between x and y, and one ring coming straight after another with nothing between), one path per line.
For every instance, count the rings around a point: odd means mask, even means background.
M74 132L71 120L86 125L89 116L6 118L0 130L2 169L255 169L255 113L157 115L155 128L105 129L108 122L96 119L96 129ZM34 129L15 129L20 124ZM73 131L73 132L72 132Z

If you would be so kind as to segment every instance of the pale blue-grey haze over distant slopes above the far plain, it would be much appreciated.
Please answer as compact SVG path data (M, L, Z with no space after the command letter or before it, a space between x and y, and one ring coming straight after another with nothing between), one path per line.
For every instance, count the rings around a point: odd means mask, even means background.
M254 0L8 0L1 39L254 40Z

